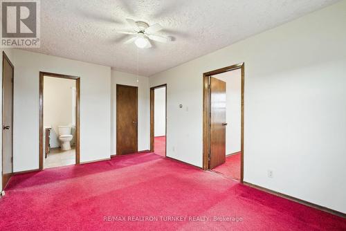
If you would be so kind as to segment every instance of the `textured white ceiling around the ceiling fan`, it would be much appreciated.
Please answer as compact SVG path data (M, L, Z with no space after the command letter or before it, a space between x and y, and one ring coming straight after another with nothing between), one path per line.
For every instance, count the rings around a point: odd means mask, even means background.
M337 1L41 0L41 48L29 50L150 76ZM160 23L174 41L122 44L127 17Z

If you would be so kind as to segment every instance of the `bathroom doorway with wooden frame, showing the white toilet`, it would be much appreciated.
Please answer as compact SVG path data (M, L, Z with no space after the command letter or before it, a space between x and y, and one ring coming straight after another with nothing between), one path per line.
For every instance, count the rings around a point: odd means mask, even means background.
M80 163L80 77L39 73L39 169Z

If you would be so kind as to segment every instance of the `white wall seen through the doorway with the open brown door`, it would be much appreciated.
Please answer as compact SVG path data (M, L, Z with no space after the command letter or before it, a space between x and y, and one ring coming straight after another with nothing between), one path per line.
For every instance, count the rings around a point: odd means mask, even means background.
M241 151L242 70L214 75L226 82L226 155Z

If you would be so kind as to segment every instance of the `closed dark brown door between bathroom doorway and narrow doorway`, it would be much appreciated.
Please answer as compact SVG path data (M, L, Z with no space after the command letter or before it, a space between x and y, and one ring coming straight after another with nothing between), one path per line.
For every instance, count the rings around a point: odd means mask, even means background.
M116 85L116 154L138 151L138 88Z

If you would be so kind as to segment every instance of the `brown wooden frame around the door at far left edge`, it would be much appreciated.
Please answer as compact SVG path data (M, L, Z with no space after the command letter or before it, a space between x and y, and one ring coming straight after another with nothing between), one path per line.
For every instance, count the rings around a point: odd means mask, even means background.
M4 71L3 71L3 64L5 62L5 60L8 62L8 64L10 64L10 66L12 67L12 173L8 174L8 176L6 176L6 178L11 178L12 174L13 174L13 112L14 112L14 96L15 96L15 66L13 66L12 62L10 61L10 59L8 58L8 56L6 55L5 51L2 52L2 107L1 107L1 116L2 116L2 122L1 122L1 132L3 132L3 99L4 99L4 95L3 95L3 88L4 88L4 82L3 82L3 75L4 75ZM1 179L2 179L2 190L5 189L6 185L4 185L5 181L3 181L3 136L2 136L2 142L1 142Z

